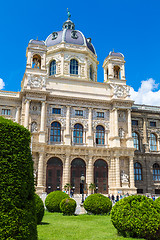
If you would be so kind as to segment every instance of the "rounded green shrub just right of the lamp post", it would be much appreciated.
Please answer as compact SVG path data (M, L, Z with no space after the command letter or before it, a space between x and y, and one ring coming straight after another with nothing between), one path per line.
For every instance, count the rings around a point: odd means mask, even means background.
M112 202L108 197L100 193L89 195L83 204L87 212L93 214L107 214L112 208Z

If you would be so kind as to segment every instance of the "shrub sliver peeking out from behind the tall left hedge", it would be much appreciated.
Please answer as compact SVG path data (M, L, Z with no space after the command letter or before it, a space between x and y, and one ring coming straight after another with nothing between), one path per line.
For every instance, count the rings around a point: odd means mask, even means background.
M37 224L40 224L44 216L44 204L42 199L35 194Z

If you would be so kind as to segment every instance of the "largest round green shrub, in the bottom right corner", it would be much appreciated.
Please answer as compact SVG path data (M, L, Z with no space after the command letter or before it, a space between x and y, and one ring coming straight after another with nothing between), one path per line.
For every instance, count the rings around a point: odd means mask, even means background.
M111 220L124 237L160 239L160 214L152 199L129 196L115 204Z

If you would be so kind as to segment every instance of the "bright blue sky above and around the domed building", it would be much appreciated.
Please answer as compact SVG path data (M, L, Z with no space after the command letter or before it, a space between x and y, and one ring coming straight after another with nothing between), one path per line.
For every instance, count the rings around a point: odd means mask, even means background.
M159 0L1 1L0 78L4 90L20 90L29 40L37 36L45 40L61 30L67 8L76 29L92 38L99 61L98 81L103 81L103 61L114 49L125 56L127 84L134 91L148 79L153 79L151 91L159 91Z

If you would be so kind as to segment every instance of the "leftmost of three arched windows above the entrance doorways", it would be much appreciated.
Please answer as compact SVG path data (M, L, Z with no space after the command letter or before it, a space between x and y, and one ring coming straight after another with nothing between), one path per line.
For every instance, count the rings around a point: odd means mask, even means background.
M61 142L61 125L59 122L51 124L50 141Z

